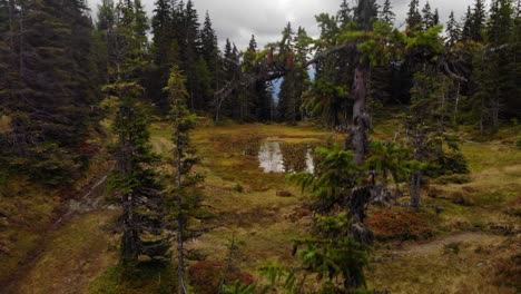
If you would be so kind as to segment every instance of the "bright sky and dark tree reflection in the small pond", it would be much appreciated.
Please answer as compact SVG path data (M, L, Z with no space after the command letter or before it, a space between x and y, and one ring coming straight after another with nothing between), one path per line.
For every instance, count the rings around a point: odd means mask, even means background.
M315 165L312 146L264 141L258 151L258 161L264 173L313 173Z

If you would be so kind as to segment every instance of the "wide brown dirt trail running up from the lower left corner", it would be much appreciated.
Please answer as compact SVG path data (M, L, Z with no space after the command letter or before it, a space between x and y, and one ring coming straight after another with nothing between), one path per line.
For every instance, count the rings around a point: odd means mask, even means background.
M59 285L57 278L66 277L67 272L91 272L96 264L105 264L99 261L96 253L107 248L106 242L100 234L100 228L108 224L114 212L101 209L101 199L105 197L105 184L108 173L99 178L94 185L81 193L81 197L70 199L65 213L45 232L45 239L40 248L30 256L18 273L14 273L11 283L3 285L1 293L75 293L70 290L81 285L81 275L76 281L68 281L69 285ZM87 229L82 229L87 228ZM96 246L98 245L98 246ZM100 248L105 246L105 248ZM91 251L89 251L89 247ZM82 252L85 261L72 264L75 253ZM60 261L61 259L61 261ZM69 271L70 270L70 271ZM86 276L89 276L88 274ZM70 276L69 276L70 277ZM38 281L38 283L37 283ZM62 291L55 287L47 288L42 285L52 283L61 286ZM85 283L83 283L85 284ZM38 286L37 286L38 285ZM37 291L38 288L38 291ZM69 291L66 291L68 288ZM78 293L78 292L76 292Z

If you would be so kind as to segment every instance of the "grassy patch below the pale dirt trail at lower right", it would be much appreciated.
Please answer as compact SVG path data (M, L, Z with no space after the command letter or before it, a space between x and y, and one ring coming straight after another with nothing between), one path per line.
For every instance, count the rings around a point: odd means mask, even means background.
M432 252L389 252L384 255L387 258L370 270L370 285L391 293L514 294L515 288L505 286L497 276L497 261L512 256L513 244L498 236L483 236L460 242L458 254L446 254L443 246Z

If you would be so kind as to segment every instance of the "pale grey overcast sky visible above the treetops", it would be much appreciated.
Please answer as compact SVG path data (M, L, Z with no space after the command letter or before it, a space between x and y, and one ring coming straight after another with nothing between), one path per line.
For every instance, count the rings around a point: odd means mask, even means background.
M96 11L100 0L88 0ZM117 1L117 0L115 0ZM142 0L151 17L156 0ZM199 18L204 19L208 11L223 47L226 38L235 42L239 50L244 50L252 35L257 43L265 43L279 39L281 31L291 21L294 28L302 26L311 36L318 35L315 16L322 12L336 13L341 0L193 0ZM421 7L426 0L420 0ZM185 1L186 2L186 1ZM355 0L350 0L355 2ZM383 0L379 0L383 2ZM404 22L410 0L394 0L394 12L397 16L396 24ZM451 10L461 19L469 4L474 0L430 0L431 7L439 8L441 20L445 23Z

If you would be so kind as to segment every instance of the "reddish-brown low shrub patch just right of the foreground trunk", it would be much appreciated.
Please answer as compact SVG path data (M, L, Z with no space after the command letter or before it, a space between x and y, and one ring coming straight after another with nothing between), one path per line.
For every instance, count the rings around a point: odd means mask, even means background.
M380 209L368 218L368 226L380 241L425 239L434 235L431 219L424 212L409 209Z

